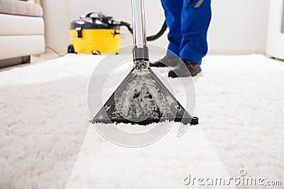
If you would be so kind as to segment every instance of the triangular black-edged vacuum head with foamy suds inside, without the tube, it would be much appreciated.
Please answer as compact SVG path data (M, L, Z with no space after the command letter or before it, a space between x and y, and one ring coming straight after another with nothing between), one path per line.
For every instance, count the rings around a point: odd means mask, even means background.
M197 125L172 93L150 68L132 69L92 123L131 123L148 125L163 121Z

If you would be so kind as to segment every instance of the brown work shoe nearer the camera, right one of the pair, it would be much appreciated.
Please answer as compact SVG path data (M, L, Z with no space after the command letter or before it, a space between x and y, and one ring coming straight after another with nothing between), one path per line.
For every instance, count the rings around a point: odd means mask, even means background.
M201 72L200 64L192 62L188 59L183 59L178 62L177 67L168 72L169 77L187 77L187 76L196 76Z

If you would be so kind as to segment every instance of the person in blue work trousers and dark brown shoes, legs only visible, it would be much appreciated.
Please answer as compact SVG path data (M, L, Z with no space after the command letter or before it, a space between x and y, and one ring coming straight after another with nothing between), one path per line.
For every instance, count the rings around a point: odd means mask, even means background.
M201 72L207 54L207 30L211 21L211 0L161 0L169 28L168 52L150 67L175 67L169 77L195 76ZM178 57L177 57L178 56ZM182 59L182 61L180 61ZM183 64L183 65L182 65ZM185 69L185 66L188 70ZM189 74L190 72L190 74Z

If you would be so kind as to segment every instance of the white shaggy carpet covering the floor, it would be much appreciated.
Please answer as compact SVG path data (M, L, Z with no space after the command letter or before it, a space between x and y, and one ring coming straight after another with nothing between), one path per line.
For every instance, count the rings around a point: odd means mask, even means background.
M194 78L200 125L129 149L88 123L87 83L100 59L67 55L0 72L0 188L181 188L188 173L229 177L241 168L283 181L283 62L205 57Z

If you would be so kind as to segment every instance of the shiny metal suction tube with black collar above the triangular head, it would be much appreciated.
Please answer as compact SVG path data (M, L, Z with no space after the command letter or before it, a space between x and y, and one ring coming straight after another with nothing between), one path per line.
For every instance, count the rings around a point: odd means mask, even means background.
M143 0L132 0L133 25L133 60L134 68L146 69L147 65L137 65L140 61L149 61L149 52L146 40L146 23Z

